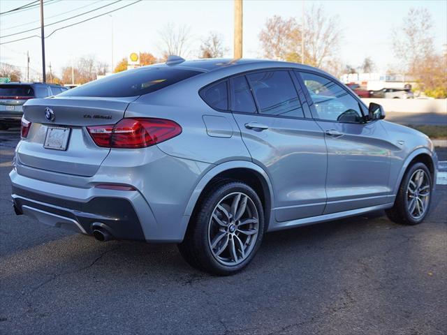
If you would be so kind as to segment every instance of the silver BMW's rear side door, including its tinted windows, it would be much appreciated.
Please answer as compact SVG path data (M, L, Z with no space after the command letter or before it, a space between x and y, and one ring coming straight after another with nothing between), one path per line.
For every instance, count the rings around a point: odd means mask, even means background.
M308 107L291 73L268 70L233 77L230 92L230 107L242 139L272 181L276 220L322 214L327 165L324 135L314 120L306 118Z

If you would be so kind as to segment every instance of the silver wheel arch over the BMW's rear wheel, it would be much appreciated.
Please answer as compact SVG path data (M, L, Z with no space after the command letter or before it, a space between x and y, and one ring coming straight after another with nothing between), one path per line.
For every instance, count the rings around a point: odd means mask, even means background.
M231 161L221 163L209 170L194 188L189 202L186 205L184 216L193 216L193 212L199 203L200 196L212 187L216 182L223 179L242 181L254 188L264 207L265 230L271 221L273 200L273 188L267 172L259 165L249 161ZM188 223L189 225L189 223Z

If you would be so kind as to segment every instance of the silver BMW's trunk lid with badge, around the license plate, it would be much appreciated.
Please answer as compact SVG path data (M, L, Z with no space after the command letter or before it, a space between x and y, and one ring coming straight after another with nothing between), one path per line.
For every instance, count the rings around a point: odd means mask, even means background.
M17 161L31 168L93 176L110 149L96 146L85 127L117 123L133 100L135 97L60 97L27 101L24 118L31 121L31 128L17 149ZM57 128L67 134L66 147L49 149L47 134Z

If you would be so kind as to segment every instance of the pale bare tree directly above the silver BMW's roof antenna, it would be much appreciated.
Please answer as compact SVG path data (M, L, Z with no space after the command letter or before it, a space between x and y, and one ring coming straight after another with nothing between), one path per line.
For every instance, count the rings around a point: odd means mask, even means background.
M186 25L176 27L172 23L166 24L163 30L159 31L163 43L163 57L170 54L186 56L189 49L190 31L191 28Z

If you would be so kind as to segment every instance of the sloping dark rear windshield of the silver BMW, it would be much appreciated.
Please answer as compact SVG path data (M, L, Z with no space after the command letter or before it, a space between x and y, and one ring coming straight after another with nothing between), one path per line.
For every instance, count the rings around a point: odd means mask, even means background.
M198 71L181 68L156 68L152 66L137 68L88 82L80 87L61 93L61 96L141 96L142 94L163 89L163 87L175 84L199 73Z

